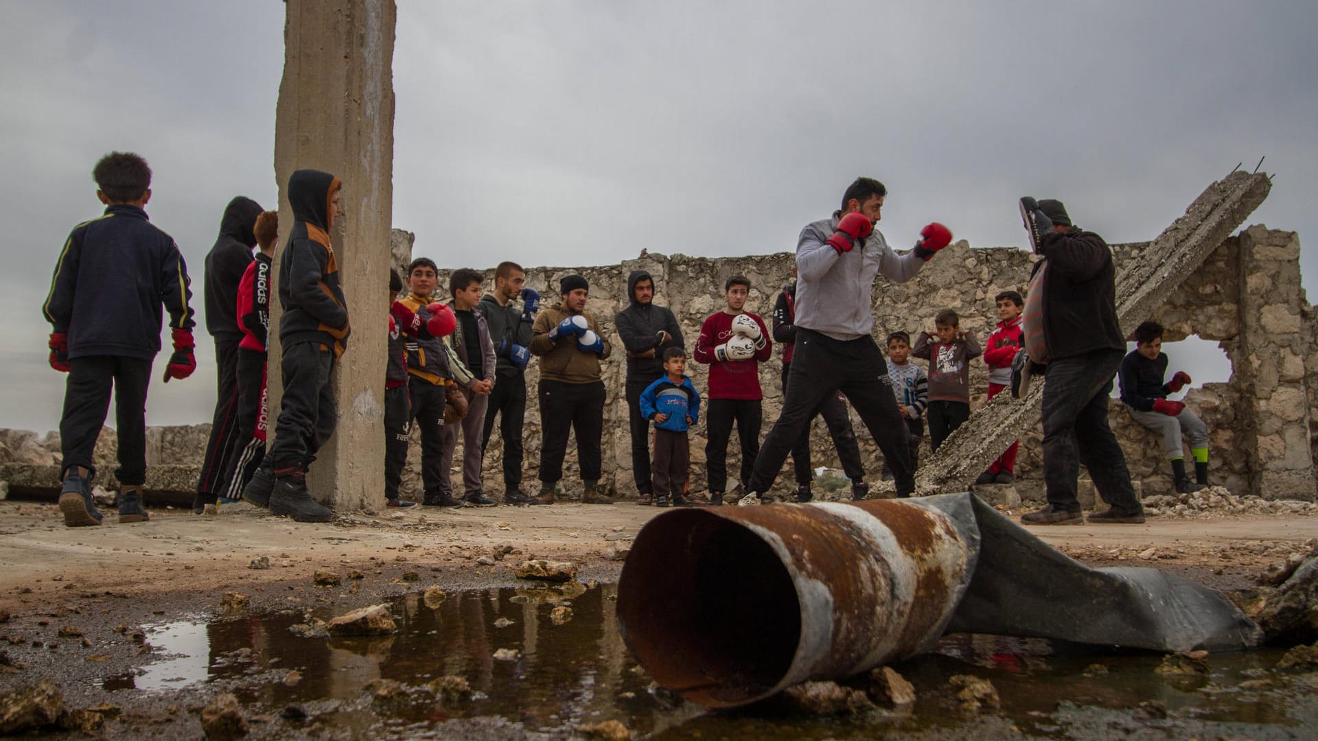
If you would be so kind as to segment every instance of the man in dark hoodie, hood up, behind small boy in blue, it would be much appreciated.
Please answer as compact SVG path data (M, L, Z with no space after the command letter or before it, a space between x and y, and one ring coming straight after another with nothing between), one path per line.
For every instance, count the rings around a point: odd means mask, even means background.
M685 349L677 318L664 306L655 306L655 280L646 270L627 276L631 305L613 318L614 330L627 351L627 411L631 417L631 475L639 497L637 504L654 501L650 485L650 421L641 414L641 392L663 376L663 351Z

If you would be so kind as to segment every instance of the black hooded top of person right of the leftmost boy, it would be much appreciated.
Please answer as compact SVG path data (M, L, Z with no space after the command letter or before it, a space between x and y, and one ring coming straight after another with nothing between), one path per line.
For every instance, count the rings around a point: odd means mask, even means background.
M261 211L261 204L250 198L235 196L224 207L220 236L206 256L206 331L216 340L243 339L237 316L239 283L252 264L253 228Z

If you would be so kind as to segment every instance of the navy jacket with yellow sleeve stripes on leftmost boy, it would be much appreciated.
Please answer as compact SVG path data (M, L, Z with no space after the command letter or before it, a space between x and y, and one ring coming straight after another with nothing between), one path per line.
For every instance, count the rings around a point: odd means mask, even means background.
M161 303L174 330L192 328L187 265L174 239L146 211L115 203L74 227L42 311L69 335L69 357L123 355L150 360L161 349Z

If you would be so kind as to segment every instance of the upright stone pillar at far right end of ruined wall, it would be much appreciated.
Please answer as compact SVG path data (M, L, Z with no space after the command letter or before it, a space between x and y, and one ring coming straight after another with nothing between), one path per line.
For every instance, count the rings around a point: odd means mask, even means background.
M1249 227L1240 235L1242 443L1249 489L1269 500L1314 500L1300 237ZM1244 368L1242 368L1242 361Z

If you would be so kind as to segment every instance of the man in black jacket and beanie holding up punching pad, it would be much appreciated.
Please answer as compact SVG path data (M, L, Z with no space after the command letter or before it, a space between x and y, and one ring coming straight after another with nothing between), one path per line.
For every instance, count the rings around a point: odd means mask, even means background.
M1126 456L1107 426L1112 376L1126 355L1112 252L1103 237L1073 227L1060 200L1025 196L1020 212L1040 256L1029 277L1023 339L1029 360L1048 368L1043 402L1048 506L1020 521L1083 522L1075 493L1083 463L1110 506L1090 514L1090 522L1144 522Z

